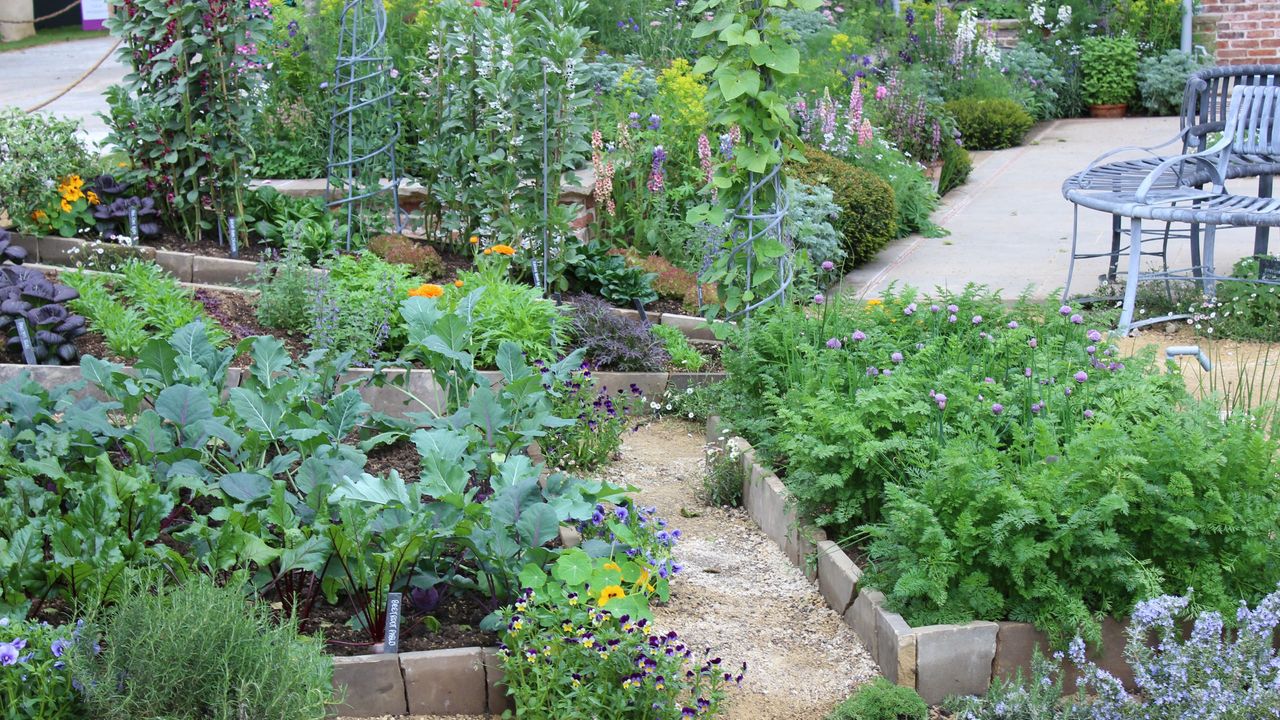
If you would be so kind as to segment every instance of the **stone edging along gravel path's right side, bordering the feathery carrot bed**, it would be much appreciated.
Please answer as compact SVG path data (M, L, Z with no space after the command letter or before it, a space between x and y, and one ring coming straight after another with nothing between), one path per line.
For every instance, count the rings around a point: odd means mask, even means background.
M1048 655L1048 637L1029 623L989 623L911 626L884 607L884 594L861 583L859 568L838 544L817 528L803 527L790 506L786 487L751 445L726 432L719 418L707 421L708 446L735 446L744 473L742 505L792 564L815 579L827 605L858 634L863 646L891 682L915 689L925 702L954 694L983 694L993 679L1025 678L1032 655ZM1124 661L1125 625L1107 618L1102 623L1102 648L1089 657L1132 687L1133 673ZM1068 673L1066 691L1074 691Z

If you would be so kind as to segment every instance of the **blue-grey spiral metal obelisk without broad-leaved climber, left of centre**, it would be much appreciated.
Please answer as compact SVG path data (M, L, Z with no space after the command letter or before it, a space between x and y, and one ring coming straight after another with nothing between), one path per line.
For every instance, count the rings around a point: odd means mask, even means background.
M387 54L383 1L346 0L338 37L325 197L347 215L351 250L351 236L365 218L379 218L384 227L383 218L389 217L396 232L404 228L396 165L396 69Z

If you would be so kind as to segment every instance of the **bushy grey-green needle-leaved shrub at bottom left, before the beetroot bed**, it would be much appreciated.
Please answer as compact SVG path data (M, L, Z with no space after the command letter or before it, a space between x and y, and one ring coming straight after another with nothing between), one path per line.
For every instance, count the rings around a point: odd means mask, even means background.
M320 720L333 705L333 661L319 639L246 602L233 578L179 587L134 580L119 605L91 615L70 667L104 720ZM180 669L180 671L175 671Z

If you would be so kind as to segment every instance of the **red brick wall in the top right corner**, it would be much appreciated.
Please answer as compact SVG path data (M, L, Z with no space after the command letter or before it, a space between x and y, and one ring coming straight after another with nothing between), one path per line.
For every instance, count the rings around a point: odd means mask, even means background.
M1280 63L1280 0L1202 0L1197 29L1220 65Z

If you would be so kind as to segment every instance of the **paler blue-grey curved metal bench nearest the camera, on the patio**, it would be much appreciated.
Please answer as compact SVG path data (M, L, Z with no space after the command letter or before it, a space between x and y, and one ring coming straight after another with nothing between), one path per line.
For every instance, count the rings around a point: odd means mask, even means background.
M1213 124L1217 122L1213 120ZM1215 281L1222 279L1213 269L1213 243L1219 227L1258 228L1263 243L1266 229L1280 227L1280 199L1270 197L1270 179L1280 173L1280 83L1234 86L1226 117L1219 127L1221 140L1203 150L1172 158L1096 164L1071 176L1062 186L1062 195L1075 204L1076 213L1083 206L1110 213L1114 218L1130 219L1121 331L1172 319L1133 322L1138 282L1181 277L1181 273L1188 272L1170 272L1165 268L1162 273L1142 273L1142 258L1147 255L1142 251L1143 220L1204 227L1203 259L1193 256L1194 266L1190 272L1203 282L1204 292L1210 296L1213 293ZM1208 135L1201 137L1207 138ZM1253 176L1268 181L1260 184L1258 195L1226 192L1228 181ZM1076 240L1073 237L1073 255ZM1198 247L1194 233L1192 240L1193 247ZM1257 243L1256 240L1256 251L1260 250ZM1261 251L1265 250L1263 245Z

